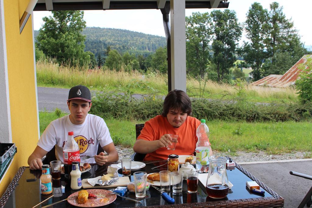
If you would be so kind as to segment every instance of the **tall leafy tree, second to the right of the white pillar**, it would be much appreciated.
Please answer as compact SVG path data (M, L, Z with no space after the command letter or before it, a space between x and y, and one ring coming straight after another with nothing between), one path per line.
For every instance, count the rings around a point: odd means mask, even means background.
M213 42L212 62L217 66L218 81L222 81L230 74L230 68L236 61L235 53L242 27L237 22L236 12L233 10L214 10L211 12Z

